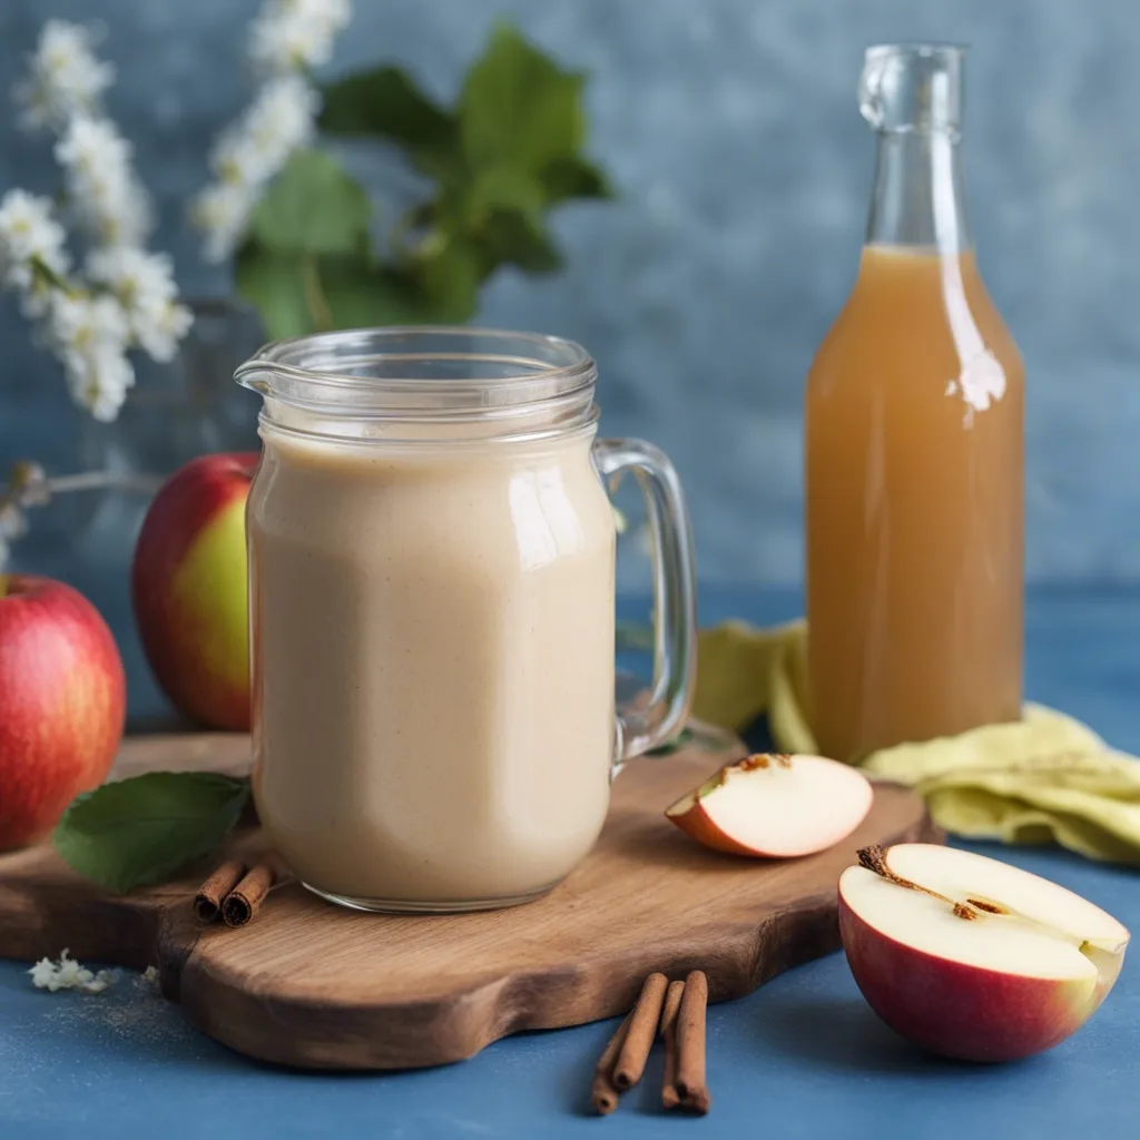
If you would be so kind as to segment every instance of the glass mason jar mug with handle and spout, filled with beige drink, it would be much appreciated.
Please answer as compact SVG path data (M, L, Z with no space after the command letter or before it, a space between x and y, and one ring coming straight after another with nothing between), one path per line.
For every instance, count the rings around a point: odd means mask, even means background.
M237 370L260 392L247 531L253 789L310 889L458 911L544 894L694 669L692 539L668 459L595 439L594 361L549 336L326 333ZM651 694L614 708L616 535L657 538Z

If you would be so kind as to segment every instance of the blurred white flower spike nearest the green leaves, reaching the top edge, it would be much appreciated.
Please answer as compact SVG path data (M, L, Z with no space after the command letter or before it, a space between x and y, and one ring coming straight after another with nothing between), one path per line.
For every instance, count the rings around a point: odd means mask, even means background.
M210 155L214 179L192 207L207 261L225 261L235 251L266 187L312 139L320 97L308 72L328 62L351 15L350 0L264 0L249 40L250 62L263 83L218 137Z

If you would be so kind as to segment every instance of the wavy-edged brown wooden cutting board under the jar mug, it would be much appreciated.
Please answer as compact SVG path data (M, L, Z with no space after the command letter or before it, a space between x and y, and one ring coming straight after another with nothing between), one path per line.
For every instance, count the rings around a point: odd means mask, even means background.
M939 837L914 792L880 784L863 825L832 850L784 862L706 850L661 813L726 758L689 749L634 760L593 854L551 895L506 911L361 914L285 881L250 926L230 930L199 927L190 907L220 855L122 897L49 846L0 856L0 956L67 946L80 959L155 964L163 993L211 1036L307 1068L461 1060L511 1033L624 1012L652 970L700 968L711 1000L738 997L838 948L836 881L856 848ZM115 775L247 766L244 735L138 736ZM247 828L229 848L253 860L264 842Z

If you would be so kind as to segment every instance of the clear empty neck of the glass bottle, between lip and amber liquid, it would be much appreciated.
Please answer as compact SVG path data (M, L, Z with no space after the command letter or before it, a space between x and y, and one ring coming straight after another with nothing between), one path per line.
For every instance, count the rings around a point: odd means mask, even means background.
M964 253L974 245L966 213L959 136L880 131L866 241Z

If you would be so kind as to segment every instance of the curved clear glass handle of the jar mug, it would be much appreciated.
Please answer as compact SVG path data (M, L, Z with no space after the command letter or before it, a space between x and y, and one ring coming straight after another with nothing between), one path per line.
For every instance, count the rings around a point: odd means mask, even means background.
M645 497L653 538L653 687L618 708L613 774L626 760L669 741L689 714L697 677L697 585L693 536L677 472L641 439L600 439L603 477L629 470Z

